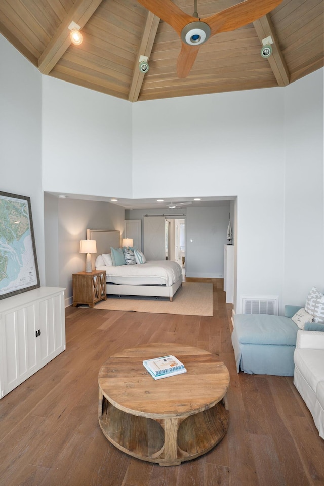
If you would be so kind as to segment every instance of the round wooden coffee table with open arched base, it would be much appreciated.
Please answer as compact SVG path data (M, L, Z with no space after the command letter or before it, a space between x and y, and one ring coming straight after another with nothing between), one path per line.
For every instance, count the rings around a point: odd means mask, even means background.
M173 354L187 373L154 380L144 359ZM118 449L175 466L201 456L225 435L229 373L204 349L148 344L111 356L99 371L99 424Z

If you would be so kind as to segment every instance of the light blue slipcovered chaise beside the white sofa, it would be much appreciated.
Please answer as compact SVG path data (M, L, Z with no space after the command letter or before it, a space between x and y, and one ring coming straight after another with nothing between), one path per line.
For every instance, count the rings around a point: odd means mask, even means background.
M294 375L294 351L299 327L291 319L301 306L286 305L285 316L235 314L232 344L237 373ZM323 324L307 323L305 330L324 331Z

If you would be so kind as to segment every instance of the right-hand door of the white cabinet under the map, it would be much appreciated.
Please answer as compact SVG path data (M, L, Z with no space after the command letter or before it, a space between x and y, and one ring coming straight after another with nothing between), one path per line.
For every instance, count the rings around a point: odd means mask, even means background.
M38 363L46 365L65 349L65 319L63 297L51 296L39 302Z

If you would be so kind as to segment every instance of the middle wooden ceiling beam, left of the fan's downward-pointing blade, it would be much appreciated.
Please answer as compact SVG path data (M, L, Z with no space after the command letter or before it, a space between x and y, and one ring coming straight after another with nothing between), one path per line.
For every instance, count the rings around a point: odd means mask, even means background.
M138 60L140 56L147 56L148 58L150 57L159 22L160 22L159 17L152 14L152 12L148 10L142 39L139 45L139 49L134 64L133 77L132 77L130 92L128 97L129 101L133 102L138 100L143 79L145 76L145 74L143 74L138 68L138 64L139 64Z

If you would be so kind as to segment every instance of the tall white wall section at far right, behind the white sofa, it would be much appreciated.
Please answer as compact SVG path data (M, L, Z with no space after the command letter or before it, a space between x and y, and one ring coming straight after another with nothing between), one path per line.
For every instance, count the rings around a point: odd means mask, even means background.
M312 286L324 291L323 70L289 87L286 95L286 302L305 304Z

